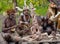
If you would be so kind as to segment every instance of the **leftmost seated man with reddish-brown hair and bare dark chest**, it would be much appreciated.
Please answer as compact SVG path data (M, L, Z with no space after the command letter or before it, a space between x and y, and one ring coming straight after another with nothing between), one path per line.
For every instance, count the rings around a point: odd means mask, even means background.
M18 43L18 41L20 40L19 35L15 31L15 25L15 10L10 9L7 11L7 18L4 20L2 27L2 35L8 43L10 43L11 41Z

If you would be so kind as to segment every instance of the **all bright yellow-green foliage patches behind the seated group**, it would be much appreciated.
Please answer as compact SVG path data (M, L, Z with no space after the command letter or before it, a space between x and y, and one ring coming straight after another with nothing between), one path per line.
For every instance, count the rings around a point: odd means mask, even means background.
M37 9L36 13L45 15L47 12L49 2L47 0L27 0L27 4L32 2L34 7ZM20 8L24 6L24 0L17 0L17 5ZM0 13L3 13L7 9L13 8L12 0L0 0Z

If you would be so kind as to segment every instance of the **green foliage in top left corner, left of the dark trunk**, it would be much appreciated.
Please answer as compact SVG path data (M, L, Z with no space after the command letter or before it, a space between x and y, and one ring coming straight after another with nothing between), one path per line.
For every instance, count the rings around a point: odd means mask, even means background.
M12 0L0 0L0 13L6 11L7 9L12 8L13 4L11 2Z

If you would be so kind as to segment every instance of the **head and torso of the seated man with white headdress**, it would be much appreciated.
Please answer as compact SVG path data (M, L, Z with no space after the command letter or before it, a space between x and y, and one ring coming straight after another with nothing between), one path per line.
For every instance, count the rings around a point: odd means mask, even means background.
M19 19L19 23L24 23L24 24L28 24L30 23L30 13L29 13L29 9L24 9L23 13L21 13L20 19Z

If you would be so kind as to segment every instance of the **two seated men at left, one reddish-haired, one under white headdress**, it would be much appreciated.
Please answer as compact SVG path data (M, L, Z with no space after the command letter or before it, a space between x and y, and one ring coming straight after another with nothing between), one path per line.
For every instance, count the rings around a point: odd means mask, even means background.
M16 24L16 10L9 9L6 11L7 17L4 20L3 26L2 26L2 36L3 38L8 42L18 42L20 41L21 37L25 33L28 33L28 24L30 23L30 13L29 10L26 8L23 10L23 13L21 13L21 16L19 18L18 24Z

